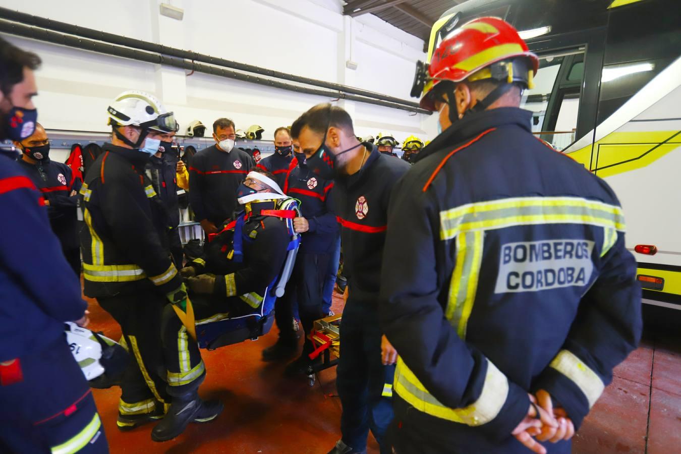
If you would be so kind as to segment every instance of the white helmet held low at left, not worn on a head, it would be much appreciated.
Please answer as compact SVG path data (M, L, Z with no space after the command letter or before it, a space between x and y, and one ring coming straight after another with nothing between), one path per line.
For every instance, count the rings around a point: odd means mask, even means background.
M64 325L66 342L86 380L95 380L106 374L91 385L98 388L111 386L102 384L118 376L125 369L122 365L129 360L125 349L106 336L81 328L76 323L69 321Z

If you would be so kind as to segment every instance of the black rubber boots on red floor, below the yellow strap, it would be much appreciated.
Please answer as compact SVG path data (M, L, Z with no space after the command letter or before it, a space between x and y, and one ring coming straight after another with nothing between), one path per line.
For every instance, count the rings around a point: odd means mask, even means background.
M172 404L165 417L151 431L154 441L168 441L185 432L191 422L212 421L222 412L224 406L219 400L201 400L196 390L182 395L173 395Z

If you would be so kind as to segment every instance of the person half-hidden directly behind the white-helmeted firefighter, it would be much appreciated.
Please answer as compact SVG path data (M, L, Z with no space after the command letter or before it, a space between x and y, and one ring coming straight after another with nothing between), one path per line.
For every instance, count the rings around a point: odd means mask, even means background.
M179 150L174 148L173 137L175 131L159 135L161 145L159 150L149 159L146 165L146 176L151 180L154 191L159 195L161 203L168 210L169 227L168 246L175 267L178 270L183 265L183 249L180 240L180 205L178 191L185 189L183 182L187 182L187 169L179 159Z

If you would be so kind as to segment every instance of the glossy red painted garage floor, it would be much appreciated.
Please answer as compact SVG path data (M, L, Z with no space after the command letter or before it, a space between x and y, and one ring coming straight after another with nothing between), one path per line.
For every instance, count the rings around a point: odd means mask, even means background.
M334 311L343 299L334 295ZM90 300L91 329L117 339L118 325ZM573 453L681 453L680 336L644 337L616 368L614 380L575 436ZM118 453L326 453L340 438L340 402L334 369L286 378L283 364L264 363L263 348L276 341L276 327L255 342L202 351L208 375L204 398L220 398L225 410L207 424L191 424L178 438L151 441L151 425L116 429L118 388L94 390L113 454ZM378 453L370 438L369 453ZM528 451L529 452L529 451Z

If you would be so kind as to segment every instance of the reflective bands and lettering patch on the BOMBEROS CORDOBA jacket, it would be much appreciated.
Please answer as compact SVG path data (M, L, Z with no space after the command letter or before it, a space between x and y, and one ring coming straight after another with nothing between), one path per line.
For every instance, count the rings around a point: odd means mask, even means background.
M456 239L456 263L449 285L445 317L462 339L466 338L466 325L473 312L486 231L518 225L577 224L602 227L604 240L599 251L601 257L615 244L618 231L624 231L624 216L620 207L580 197L518 197L468 204L440 212L440 223L441 240ZM592 273L590 257L595 247L594 242L586 240L504 244L498 253L501 262L495 290L538 291L546 288L547 283L558 287L586 285ZM541 261L551 266L540 268L537 263ZM586 282L581 282L582 279ZM600 395L603 383L574 355L569 357L568 354L571 355L567 351L561 352L552 367L577 383L592 404ZM466 408L443 406L399 358L394 389L402 399L429 415L480 425L496 417L506 401L509 389L505 375L489 360L487 366L483 390L477 402Z

